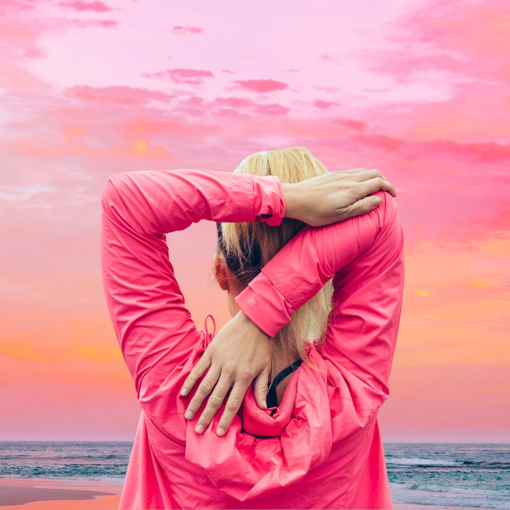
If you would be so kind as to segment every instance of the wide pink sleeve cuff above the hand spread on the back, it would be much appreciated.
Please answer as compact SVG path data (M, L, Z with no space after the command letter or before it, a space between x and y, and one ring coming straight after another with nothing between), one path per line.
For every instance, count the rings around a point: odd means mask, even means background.
M290 322L295 312L292 304L263 272L253 278L234 300L249 319L271 338Z

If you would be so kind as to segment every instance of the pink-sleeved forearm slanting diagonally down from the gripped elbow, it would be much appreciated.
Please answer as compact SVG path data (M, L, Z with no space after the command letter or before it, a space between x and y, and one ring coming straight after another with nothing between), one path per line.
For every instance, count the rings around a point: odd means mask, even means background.
M380 220L381 211L374 209L321 227L305 226L262 268L236 302L273 337L337 271L373 244Z

